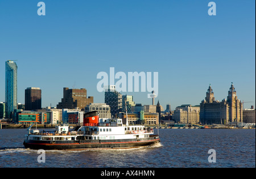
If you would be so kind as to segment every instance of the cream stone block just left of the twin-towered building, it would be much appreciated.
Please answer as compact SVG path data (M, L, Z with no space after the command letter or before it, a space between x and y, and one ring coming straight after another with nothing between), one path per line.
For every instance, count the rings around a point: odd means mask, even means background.
M172 120L178 123L199 123L200 106L190 104L177 106L172 115Z

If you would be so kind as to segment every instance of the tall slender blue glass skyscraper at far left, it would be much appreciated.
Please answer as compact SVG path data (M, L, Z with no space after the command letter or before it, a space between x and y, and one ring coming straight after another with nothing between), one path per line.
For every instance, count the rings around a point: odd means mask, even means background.
M11 118L14 109L17 109L17 69L14 61L5 62L5 111L6 118Z

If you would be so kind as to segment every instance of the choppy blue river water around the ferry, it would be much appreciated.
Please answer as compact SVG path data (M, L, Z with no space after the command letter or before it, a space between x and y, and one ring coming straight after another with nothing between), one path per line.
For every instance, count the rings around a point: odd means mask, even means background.
M43 130L43 129L42 129ZM157 129L155 129L157 133ZM85 167L255 167L255 130L159 129L160 144L119 150L46 151L39 163L37 150L23 147L27 129L0 130L0 168ZM216 151L216 163L208 151Z

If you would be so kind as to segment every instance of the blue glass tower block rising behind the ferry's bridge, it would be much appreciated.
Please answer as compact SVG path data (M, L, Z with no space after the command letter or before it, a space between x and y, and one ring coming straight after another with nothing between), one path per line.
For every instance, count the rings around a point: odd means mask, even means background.
M110 106L113 117L117 117L122 112L122 95L115 90L114 85L105 87L105 103Z

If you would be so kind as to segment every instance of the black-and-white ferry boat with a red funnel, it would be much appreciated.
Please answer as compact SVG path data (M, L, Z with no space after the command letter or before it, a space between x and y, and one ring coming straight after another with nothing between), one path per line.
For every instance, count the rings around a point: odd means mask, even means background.
M126 120L127 121L127 120ZM97 111L84 114L82 126L69 131L68 125L55 131L31 130L23 144L25 148L43 150L84 150L134 148L159 143L159 135L143 125L123 125L122 119L98 118Z

